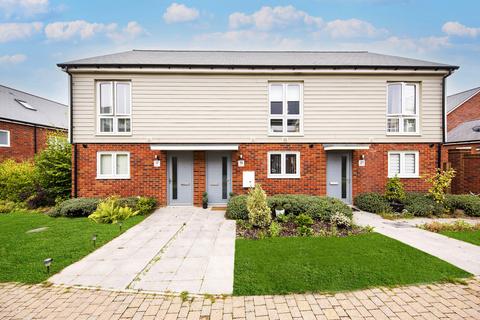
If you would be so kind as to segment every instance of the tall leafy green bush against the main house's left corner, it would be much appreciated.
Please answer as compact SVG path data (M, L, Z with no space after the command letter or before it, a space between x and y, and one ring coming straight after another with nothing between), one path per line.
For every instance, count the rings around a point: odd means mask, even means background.
M61 133L51 134L35 157L37 184L53 200L67 198L72 187L72 146Z

